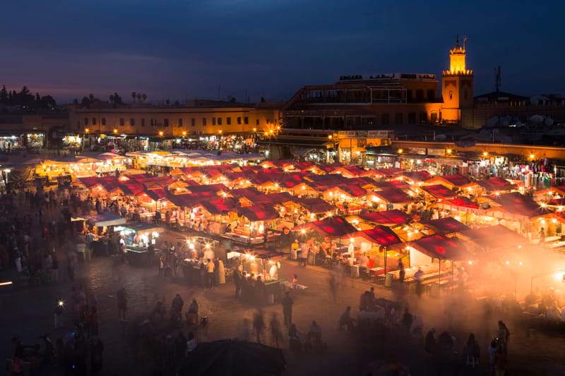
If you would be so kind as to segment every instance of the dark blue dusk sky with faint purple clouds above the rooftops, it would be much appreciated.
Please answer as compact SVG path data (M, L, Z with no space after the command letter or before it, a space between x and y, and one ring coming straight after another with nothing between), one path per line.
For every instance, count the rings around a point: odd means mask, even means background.
M563 1L3 2L0 85L58 102L290 98L339 75L435 73L467 35L475 95L565 94Z

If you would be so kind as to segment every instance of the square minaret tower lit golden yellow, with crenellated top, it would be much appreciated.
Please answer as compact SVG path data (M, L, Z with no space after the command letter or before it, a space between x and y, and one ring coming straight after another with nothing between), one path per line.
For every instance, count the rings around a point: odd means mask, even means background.
M444 71L441 75L441 95L444 97L441 118L463 128L471 128L474 104L473 75L465 65L466 40L467 37L463 37L462 47L457 36L455 47L449 50L449 71Z

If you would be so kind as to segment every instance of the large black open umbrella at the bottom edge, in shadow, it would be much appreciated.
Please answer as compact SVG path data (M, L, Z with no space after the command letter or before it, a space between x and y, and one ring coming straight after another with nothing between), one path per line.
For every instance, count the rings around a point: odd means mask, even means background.
M280 375L285 369L285 357L279 348L222 339L198 344L179 365L177 375Z

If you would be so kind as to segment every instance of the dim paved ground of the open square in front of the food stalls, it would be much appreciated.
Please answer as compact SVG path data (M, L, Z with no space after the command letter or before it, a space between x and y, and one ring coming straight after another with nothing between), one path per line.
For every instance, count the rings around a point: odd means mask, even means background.
M176 234L169 234L175 238ZM328 351L322 355L295 356L285 349L288 363L287 375L367 375L383 364L384 360L398 358L410 367L412 375L438 375L436 360L426 356L423 340L408 338L398 330L388 332L386 338L341 334L336 329L338 317L351 305L352 313L357 315L359 295L371 285L360 279L346 278L338 291L337 303L328 293L329 272L321 267L299 267L295 262L285 261L281 275L290 279L292 274L299 275L299 281L309 287L307 291L293 293L295 299L294 318L299 329L307 331L311 320L319 322L323 329L324 341ZM0 274L1 280L11 279L13 271ZM233 297L234 288L230 281L225 286L208 290L191 288L182 279L157 279L157 269L123 265L113 257L100 257L81 265L78 281L82 281L92 292L100 309L100 337L105 343L105 375L150 375L155 374L155 364L150 356L134 359L126 351L128 346L124 327L117 320L116 292L125 286L129 292L129 322L142 317L153 308L157 299L164 299L167 310L176 293L184 298L184 310L191 298L200 303L201 315L208 316L206 329L198 329L198 341L224 339L238 336L242 320L251 319L255 308L237 301ZM65 317L64 330L54 331L52 310L59 299L70 300L71 282L63 278L48 286L13 286L0 289L0 351L6 358L13 351L11 336L17 335L26 344L40 343L37 339L44 333L52 334L56 339L71 330L69 315ZM475 332L482 346L483 353L480 368L468 370L463 367L458 356L446 362L444 375L486 375L487 372L487 336L496 332L496 321L505 317L477 317L468 311L471 305L464 296L456 293L444 293L441 299L422 297L417 299L408 294L398 296L390 289L376 286L377 297L392 300L403 298L410 305L410 310L422 315L424 334L430 327L450 329L458 337L456 350L460 351L469 332ZM264 307L265 317L277 312L282 320L280 305ZM537 334L528 337L528 331L513 327L509 363L510 375L565 375L565 339L559 336L548 338ZM184 328L186 331L186 328ZM267 343L269 340L267 339ZM287 348L287 344L284 345Z

